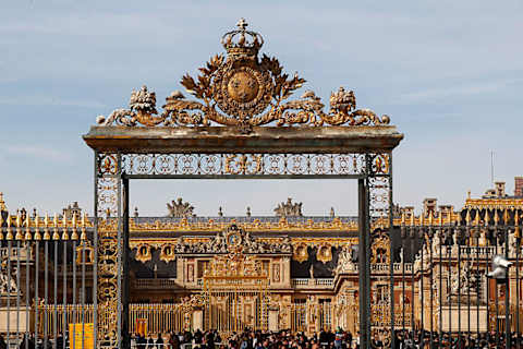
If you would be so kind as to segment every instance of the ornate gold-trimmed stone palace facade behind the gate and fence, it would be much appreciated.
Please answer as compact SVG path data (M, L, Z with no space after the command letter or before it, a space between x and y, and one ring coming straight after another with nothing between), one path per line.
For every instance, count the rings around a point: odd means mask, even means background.
M509 314L511 330L521 328L522 191L523 179L516 178L513 195L496 183L479 198L469 196L460 209L438 206L436 198L424 201L421 215L397 207L391 234L386 222L375 221L373 327L390 328L393 316L397 328L502 330ZM302 204L291 198L272 217L251 216L250 209L243 217L224 217L221 208L216 217L198 217L181 198L167 208L162 217L141 217L135 209L130 219L133 332L358 330L356 217L339 217L332 208L325 217L303 216ZM10 212L1 196L0 210L0 333L8 323L14 329L14 317L19 329L49 335L70 318L90 321L97 287L93 219L77 204L54 217ZM515 229L496 232L509 221ZM99 229L114 231L118 221L108 216ZM39 244L25 243L29 240ZM508 282L486 277L497 254L513 263ZM102 270L96 272L104 282Z

